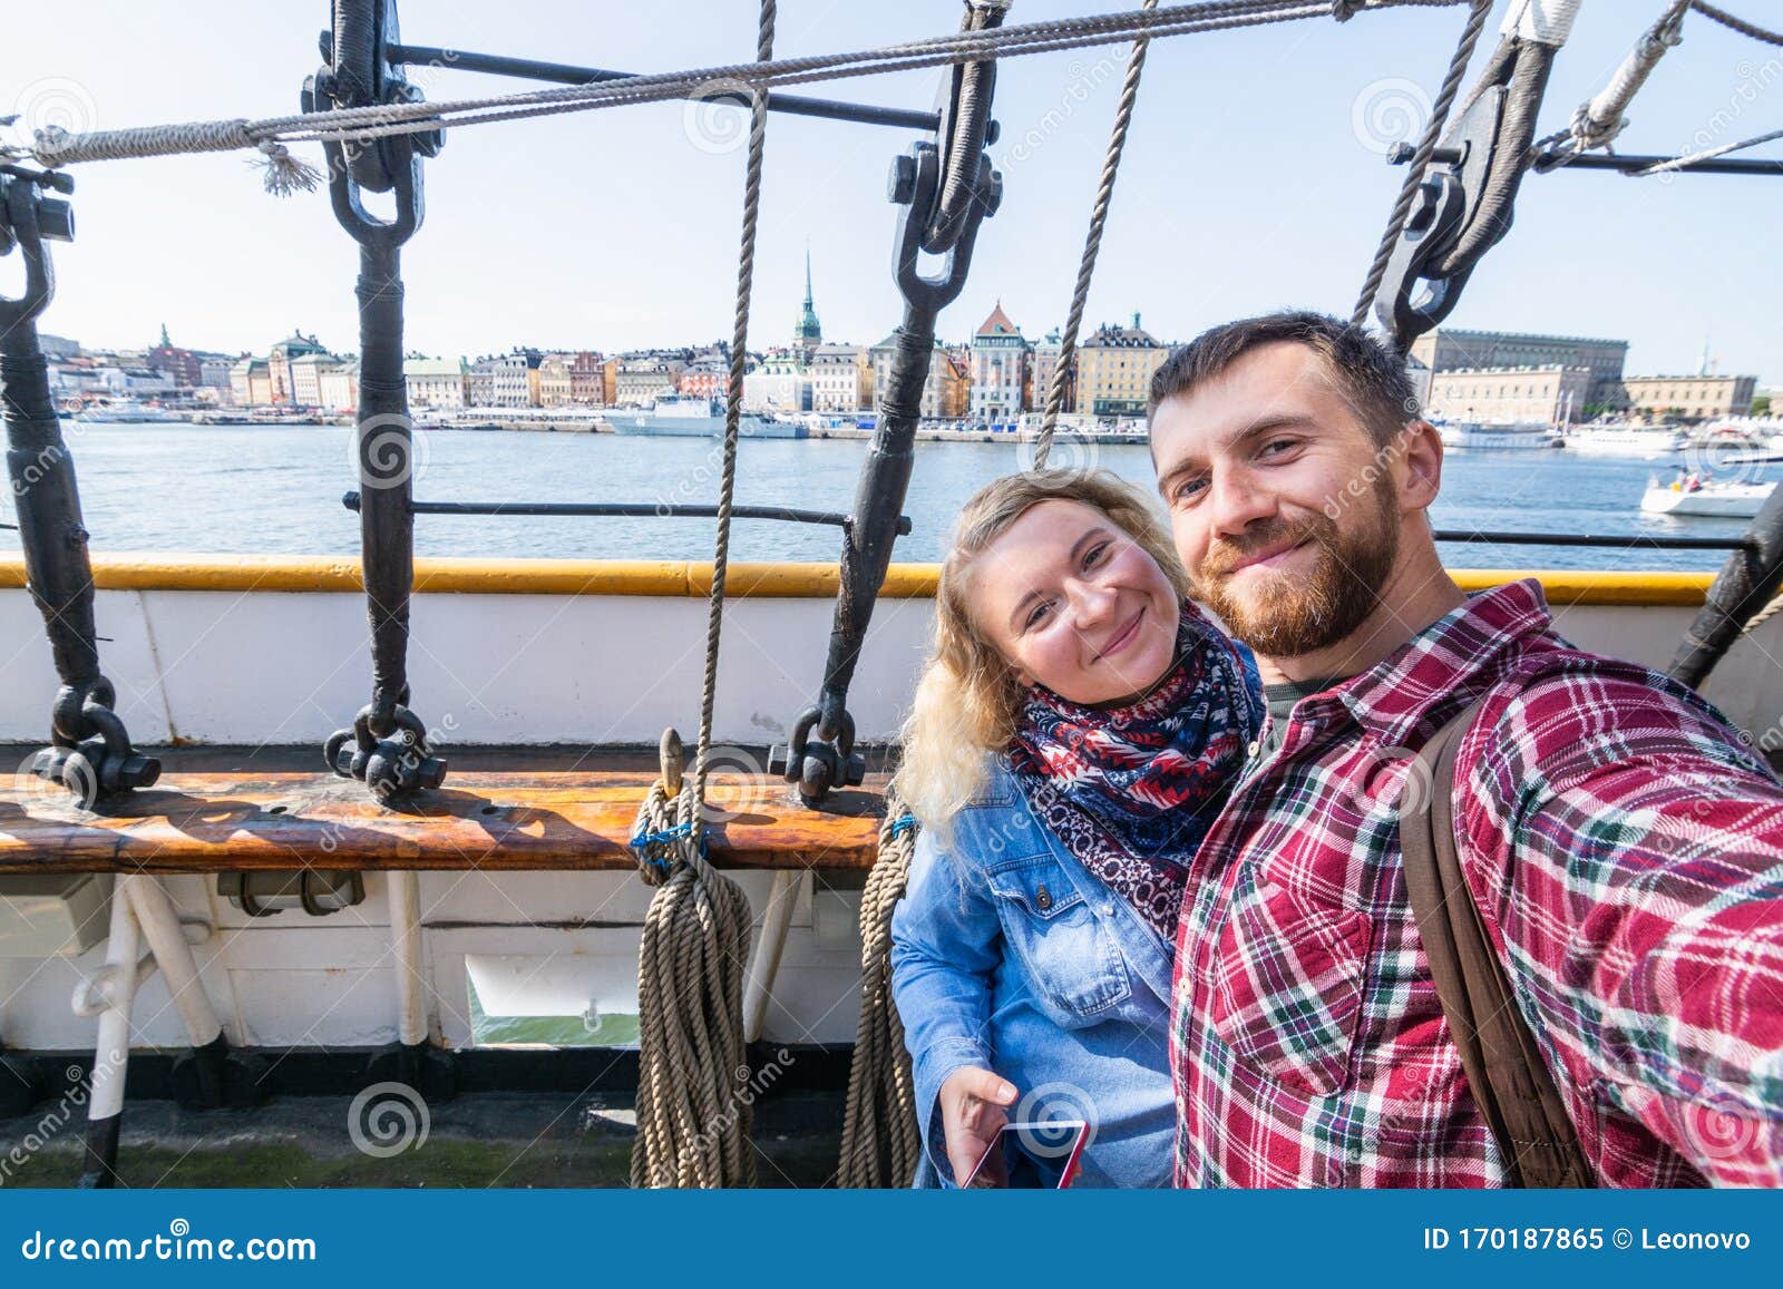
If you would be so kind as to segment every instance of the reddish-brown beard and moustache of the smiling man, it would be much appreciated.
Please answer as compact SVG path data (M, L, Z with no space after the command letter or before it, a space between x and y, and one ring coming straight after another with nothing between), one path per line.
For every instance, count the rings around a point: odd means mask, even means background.
M1216 540L1195 571L1196 590L1234 638L1264 658L1298 658L1337 644L1380 603L1380 588L1400 553L1398 508L1391 485L1371 496L1375 522L1346 533L1323 512L1307 519L1275 519L1246 530L1237 542ZM1353 530L1353 524L1352 524ZM1232 588L1232 569L1257 551L1284 549L1311 538L1307 571L1250 572L1248 592Z

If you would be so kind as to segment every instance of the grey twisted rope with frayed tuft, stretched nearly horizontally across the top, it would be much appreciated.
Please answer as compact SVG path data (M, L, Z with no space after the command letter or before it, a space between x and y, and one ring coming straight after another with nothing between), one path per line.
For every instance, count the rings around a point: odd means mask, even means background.
M1368 0L1362 9L1450 7L1466 0ZM1357 5L1346 0L1204 0L1202 4L1164 5L1114 14L1061 18L1016 27L966 30L924 41L856 50L850 53L815 53L793 59L763 59L717 68L624 77L587 86L562 86L517 94L456 98L439 103L376 103L332 112L300 112L260 119L189 121L127 130L91 130L68 134L59 128L37 130L29 148L0 150L29 155L43 166L71 166L87 160L123 160L205 152L257 148L283 184L316 182L305 162L291 157L283 144L305 141L351 143L394 134L483 125L556 112L583 112L628 103L672 98L706 98L738 89L774 89L817 80L868 77L886 71L982 62L1052 50L1116 45L1136 36L1189 36L1232 27L1294 21L1300 18L1348 14ZM275 184L269 180L269 187Z

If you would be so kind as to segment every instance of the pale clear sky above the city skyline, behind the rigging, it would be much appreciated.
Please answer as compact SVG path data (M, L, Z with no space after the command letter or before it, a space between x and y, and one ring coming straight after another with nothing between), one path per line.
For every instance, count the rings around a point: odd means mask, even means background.
M1498 20L1475 55L1496 39ZM1009 21L1105 12L1123 0L1018 0ZM1767 5L1737 9L1762 18ZM1608 80L1662 9L1585 0L1542 132ZM781 0L781 55L954 30L959 0ZM1143 316L1163 341L1278 307L1348 314L1462 9L1364 12L1155 41L1139 91L1086 326ZM298 111L319 62L325 0L64 0L12 5L0 114L116 128ZM405 0L405 39L458 50L665 71L745 61L754 0ZM1002 210L941 316L965 339L1000 300L1025 335L1059 326L1113 121L1125 46L1011 59L997 82ZM428 98L526 82L417 70ZM836 80L804 93L931 107L941 71ZM1471 80L1471 75L1469 75ZM1619 150L1689 152L1776 128L1783 50L1692 14L1630 109ZM403 253L407 342L433 355L706 342L731 332L744 116L651 103L451 132L426 164L424 226ZM908 130L774 114L767 130L751 348L785 344L809 246L829 341L872 344L899 321L895 210ZM1771 144L1778 148L1778 144ZM321 162L317 144L298 152ZM1751 155L1763 155L1765 148ZM358 348L357 248L326 194L273 198L246 153L75 168L78 237L55 246L43 330L93 348L153 342L264 351L294 328ZM1776 180L1608 171L1532 175L1516 226L1475 271L1451 326L1630 341L1631 374L1715 369L1783 380ZM16 294L18 255L0 259Z

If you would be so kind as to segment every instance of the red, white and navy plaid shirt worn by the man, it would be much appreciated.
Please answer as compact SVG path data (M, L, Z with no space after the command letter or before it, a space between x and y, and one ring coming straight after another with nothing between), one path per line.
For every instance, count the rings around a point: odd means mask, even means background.
M1400 865L1458 749L1464 870L1603 1186L1783 1184L1783 790L1689 688L1475 595L1303 699L1189 874L1179 1186L1501 1186Z

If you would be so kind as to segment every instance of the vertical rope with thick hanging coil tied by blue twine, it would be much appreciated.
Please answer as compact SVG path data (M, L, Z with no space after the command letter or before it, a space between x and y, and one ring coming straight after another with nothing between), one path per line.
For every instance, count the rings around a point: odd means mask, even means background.
M776 0L761 0L756 57L774 57ZM642 874L660 883L644 920L638 956L638 1134L631 1150L633 1186L752 1186L749 1141L752 1095L744 1041L744 965L749 959L749 899L704 858L706 772L719 690L719 638L731 558L731 503L736 494L736 440L749 353L749 298L754 287L756 225L761 216L761 157L767 91L749 102L749 160L744 175L744 230L736 262L731 378L724 406L724 472L719 535L706 613L706 674L699 702L694 779L670 802L656 783L638 809ZM672 767L663 767L665 776ZM670 813L676 820L670 824ZM672 836L670 834L678 834ZM661 840L656 840L661 838ZM653 854L669 845L674 859Z

